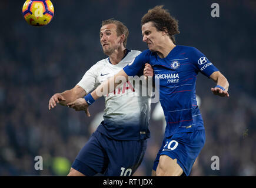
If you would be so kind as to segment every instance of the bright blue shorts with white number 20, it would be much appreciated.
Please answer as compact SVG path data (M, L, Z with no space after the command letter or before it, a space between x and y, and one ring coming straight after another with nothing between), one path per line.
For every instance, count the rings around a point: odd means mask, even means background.
M175 133L171 137L165 137L161 149L159 149L159 152L157 153L153 170L157 170L159 157L161 155L167 155L172 159L177 159L177 163L188 176L204 143L205 130Z

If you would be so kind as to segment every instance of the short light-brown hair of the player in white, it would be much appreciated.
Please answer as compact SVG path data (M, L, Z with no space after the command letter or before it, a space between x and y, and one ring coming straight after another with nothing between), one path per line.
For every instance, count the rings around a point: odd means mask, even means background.
M113 18L102 21L101 26L104 26L104 25L107 25L107 24L115 24L117 26L117 36L120 36L122 34L125 35L123 44L124 44L124 48L126 48L127 38L129 36L129 31L128 31L127 26L125 26L124 23L122 23L118 20L115 20Z

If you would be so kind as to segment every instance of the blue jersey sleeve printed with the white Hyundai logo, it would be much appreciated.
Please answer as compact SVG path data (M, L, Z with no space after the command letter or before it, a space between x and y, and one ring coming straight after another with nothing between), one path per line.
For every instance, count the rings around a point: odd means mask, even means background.
M197 71L208 78L213 72L219 71L212 62L207 59L204 53L200 52L197 48L191 48L191 51L189 52L189 60L195 65Z

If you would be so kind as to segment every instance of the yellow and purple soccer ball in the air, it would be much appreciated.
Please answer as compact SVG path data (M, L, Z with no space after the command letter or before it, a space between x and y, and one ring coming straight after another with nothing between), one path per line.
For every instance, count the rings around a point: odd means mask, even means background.
M29 25L44 26L54 17L54 5L49 0L26 0L22 13Z

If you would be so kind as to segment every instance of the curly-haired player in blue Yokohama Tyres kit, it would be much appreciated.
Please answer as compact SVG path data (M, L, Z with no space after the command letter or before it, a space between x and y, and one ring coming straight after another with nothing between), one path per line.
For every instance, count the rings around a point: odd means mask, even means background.
M176 44L174 35L179 33L178 21L162 6L149 9L142 17L141 25L143 41L148 49L85 99L94 102L100 97L97 94L119 76L127 80L128 76L138 75L144 66L144 75L152 76L154 69L154 77L159 80L159 100L167 125L152 175L181 176L185 173L189 176L205 143L204 122L195 98L197 75L200 72L217 84L211 88L214 95L228 97L229 83L197 48ZM115 83L115 86L118 84ZM85 106L88 113L88 105Z

